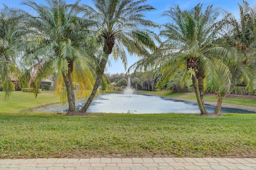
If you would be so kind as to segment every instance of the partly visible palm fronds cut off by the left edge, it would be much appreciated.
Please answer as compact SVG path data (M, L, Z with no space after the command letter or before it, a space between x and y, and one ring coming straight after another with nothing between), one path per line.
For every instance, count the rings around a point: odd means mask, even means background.
M3 6L4 8L0 9L0 85L4 87L5 98L8 99L13 85L11 76L18 71L16 38L23 11L8 8L5 4Z

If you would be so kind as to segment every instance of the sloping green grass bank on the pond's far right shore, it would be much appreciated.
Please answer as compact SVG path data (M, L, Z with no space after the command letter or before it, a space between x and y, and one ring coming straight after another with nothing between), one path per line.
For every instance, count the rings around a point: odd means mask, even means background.
M149 94L149 95L158 95L165 96L170 98L184 98L184 99L193 99L196 100L196 95L194 93L172 93L172 92L148 92L148 91L138 91L140 94ZM214 94L206 94L204 99L210 102L217 102L217 98ZM236 104L243 106L256 107L256 96L238 96L238 95L228 95L223 99L224 103Z

